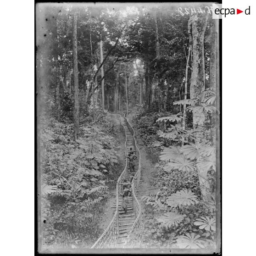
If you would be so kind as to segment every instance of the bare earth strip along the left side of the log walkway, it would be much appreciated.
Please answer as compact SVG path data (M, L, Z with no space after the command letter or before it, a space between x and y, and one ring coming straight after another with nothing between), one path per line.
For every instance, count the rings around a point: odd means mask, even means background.
M115 136L117 139L117 144L120 146L120 155L122 155L122 166L123 168L125 167L126 163L126 148L125 148L125 134L123 134L122 130L119 129L119 125L117 124L117 135ZM123 170L123 169L122 169ZM120 170L120 172L122 172ZM114 203L116 200L116 187L111 189L109 192L109 196L107 198L104 210L100 214L100 223L99 223L99 228L102 230L102 233L104 230L108 227L109 223L112 220L112 217L114 216L115 213L115 208L113 208Z

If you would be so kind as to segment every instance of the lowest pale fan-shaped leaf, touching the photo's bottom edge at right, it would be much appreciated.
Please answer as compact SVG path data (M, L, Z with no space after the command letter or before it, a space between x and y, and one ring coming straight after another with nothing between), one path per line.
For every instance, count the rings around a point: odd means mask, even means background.
M204 248L204 241L199 239L200 235L195 235L195 233L186 233L186 235L181 235L177 239L177 245L179 248L186 249L199 249Z

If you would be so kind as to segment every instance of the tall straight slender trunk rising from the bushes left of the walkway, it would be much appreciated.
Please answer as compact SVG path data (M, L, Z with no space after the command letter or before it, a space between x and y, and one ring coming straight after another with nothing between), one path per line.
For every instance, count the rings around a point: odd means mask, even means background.
M73 76L74 76L74 135L79 135L79 88L78 88L78 46L77 46L77 11L73 13Z

